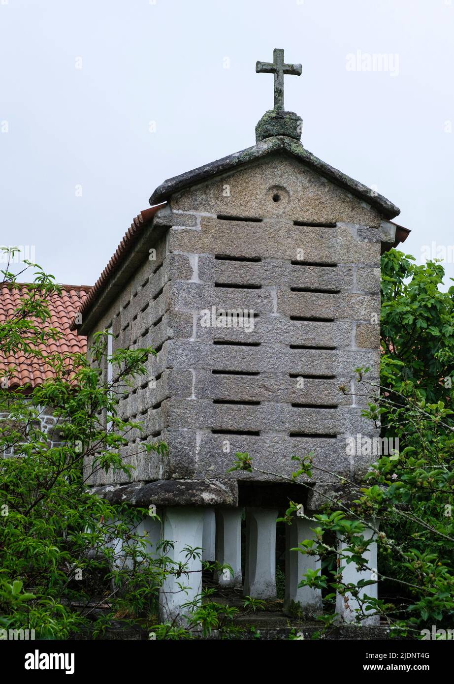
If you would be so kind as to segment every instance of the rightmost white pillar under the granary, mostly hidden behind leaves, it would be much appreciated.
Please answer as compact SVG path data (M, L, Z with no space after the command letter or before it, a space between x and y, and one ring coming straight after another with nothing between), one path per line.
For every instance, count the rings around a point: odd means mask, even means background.
M375 525L375 527L377 527L377 525ZM373 538L374 534L374 531L369 527L366 527L366 529L362 533L365 540ZM338 552L347 553L345 551L346 547L349 547L349 543L344 538L342 538L342 536L338 535ZM345 560L342 560L342 558L340 559L340 567L344 568L344 570L342 570L342 581L344 581L344 583L356 584L358 581L360 581L360 579L377 579L377 543L373 542L372 544L370 544L368 549L364 551L364 553L362 553L362 557L366 558L367 565L369 568L371 568L370 570L363 570L362 572L358 572L358 570L356 569L355 562L352 561L351 563L347 564ZM377 599L377 590L377 583L368 584L368 586L360 590L360 598L364 596L364 594L367 594L368 596L372 596L374 599ZM342 596L338 593L338 595L336 596L336 613L345 622L355 621L355 619L358 616L355 610L357 610L358 608L359 604L357 600L352 598L352 596L349 596L349 594L344 594L344 596ZM379 616L375 615L368 618L364 618L362 620L362 624L379 624L379 620Z

